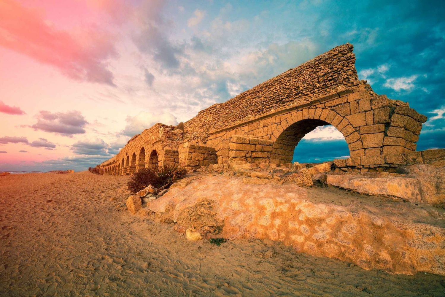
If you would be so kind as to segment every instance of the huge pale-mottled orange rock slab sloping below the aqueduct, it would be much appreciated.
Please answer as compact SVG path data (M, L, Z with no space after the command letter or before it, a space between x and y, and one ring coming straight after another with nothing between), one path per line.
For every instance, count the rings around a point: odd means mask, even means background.
M210 226L227 239L278 240L299 252L364 269L445 275L443 209L356 194L342 197L329 188L291 183L258 187L242 180L203 176L186 189L170 189L148 207L161 220L195 230Z

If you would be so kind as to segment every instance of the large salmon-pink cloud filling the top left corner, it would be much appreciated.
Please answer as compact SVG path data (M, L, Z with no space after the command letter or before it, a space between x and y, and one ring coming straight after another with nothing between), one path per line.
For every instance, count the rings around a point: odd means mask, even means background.
M117 57L114 36L90 26L57 29L41 10L16 0L0 3L0 46L53 65L77 81L113 85L107 60Z

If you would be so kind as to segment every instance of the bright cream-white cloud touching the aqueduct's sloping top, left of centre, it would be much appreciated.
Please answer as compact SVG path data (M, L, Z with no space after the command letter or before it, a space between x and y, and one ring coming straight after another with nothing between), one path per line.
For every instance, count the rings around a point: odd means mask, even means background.
M125 126L125 129L122 130L121 134L127 136L140 134L143 130L150 128L156 123L178 125L176 117L169 112L157 114L150 111L141 111L134 117L127 116L125 121L127 121L127 125Z

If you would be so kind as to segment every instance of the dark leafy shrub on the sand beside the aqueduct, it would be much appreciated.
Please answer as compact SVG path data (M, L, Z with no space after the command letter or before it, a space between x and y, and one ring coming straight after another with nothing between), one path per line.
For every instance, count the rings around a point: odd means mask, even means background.
M186 168L181 166L162 166L158 169L142 168L139 169L127 182L129 191L136 193L152 185L155 188L170 187L178 179L186 176Z

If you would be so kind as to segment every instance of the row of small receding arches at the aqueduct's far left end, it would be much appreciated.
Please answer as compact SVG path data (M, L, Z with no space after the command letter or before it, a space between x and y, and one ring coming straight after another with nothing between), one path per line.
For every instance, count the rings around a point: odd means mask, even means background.
M126 155L126 157L122 157L121 161L117 164L103 167L101 169L101 173L108 175L130 175L142 167L157 169L158 163L159 158L156 150L152 150L150 152L148 162L146 162L146 151L142 146L139 150L138 156L136 153L131 154L131 157L130 155Z

